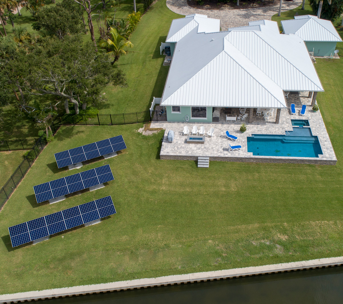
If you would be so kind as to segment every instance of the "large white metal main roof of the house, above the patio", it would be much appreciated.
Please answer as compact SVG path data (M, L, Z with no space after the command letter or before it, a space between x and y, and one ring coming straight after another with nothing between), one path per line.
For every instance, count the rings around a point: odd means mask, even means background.
M256 26L261 30L251 30ZM276 33L274 24L216 33L193 28L176 45L161 105L283 108L283 90L323 91L299 37Z

